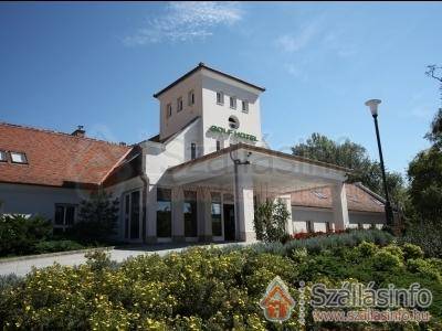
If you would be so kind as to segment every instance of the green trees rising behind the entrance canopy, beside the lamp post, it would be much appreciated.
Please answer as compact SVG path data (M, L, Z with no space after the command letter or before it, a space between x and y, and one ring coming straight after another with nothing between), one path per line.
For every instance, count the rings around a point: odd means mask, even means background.
M320 134L313 134L306 142L294 146L292 152L295 156L352 169L348 182L361 182L371 191L383 195L379 162L371 160L362 146L349 139L338 143ZM386 177L392 202L403 206L407 195L402 175L398 172L387 171Z

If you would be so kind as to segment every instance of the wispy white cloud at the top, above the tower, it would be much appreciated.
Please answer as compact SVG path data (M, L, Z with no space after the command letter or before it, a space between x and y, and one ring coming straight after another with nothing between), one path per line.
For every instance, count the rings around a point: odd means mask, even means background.
M215 26L231 25L242 15L238 2L170 2L162 15L148 20L145 28L124 41L128 45L143 45L207 38Z

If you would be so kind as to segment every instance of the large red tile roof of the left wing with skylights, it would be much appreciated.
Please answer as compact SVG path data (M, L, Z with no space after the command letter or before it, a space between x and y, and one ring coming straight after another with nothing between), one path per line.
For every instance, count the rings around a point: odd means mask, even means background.
M70 186L96 185L130 147L0 122L0 150L27 154L28 164L0 162L0 182Z

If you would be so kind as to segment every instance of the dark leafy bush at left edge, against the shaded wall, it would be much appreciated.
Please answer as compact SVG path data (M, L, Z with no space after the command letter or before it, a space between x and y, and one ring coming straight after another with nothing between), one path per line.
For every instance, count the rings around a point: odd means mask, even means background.
M51 234L51 222L41 216L0 215L0 256L33 253Z

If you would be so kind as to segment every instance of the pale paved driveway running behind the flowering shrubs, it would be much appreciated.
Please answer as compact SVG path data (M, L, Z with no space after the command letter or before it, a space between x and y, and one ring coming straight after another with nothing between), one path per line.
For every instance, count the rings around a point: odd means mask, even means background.
M217 244L214 246L225 246L232 244ZM188 245L154 245L154 246L143 246L134 248L115 248L110 249L110 259L116 261L123 261L130 256L138 256L143 254L154 254L157 253L164 256L171 252L181 252L188 248ZM209 246L203 246L209 247ZM84 253L73 253L59 256L43 256L34 257L31 259L13 260L13 261L1 261L0 260L0 275L15 274L17 276L24 276L31 271L31 267L43 268L53 265L54 263L61 264L63 266L74 266L81 265L86 261Z

